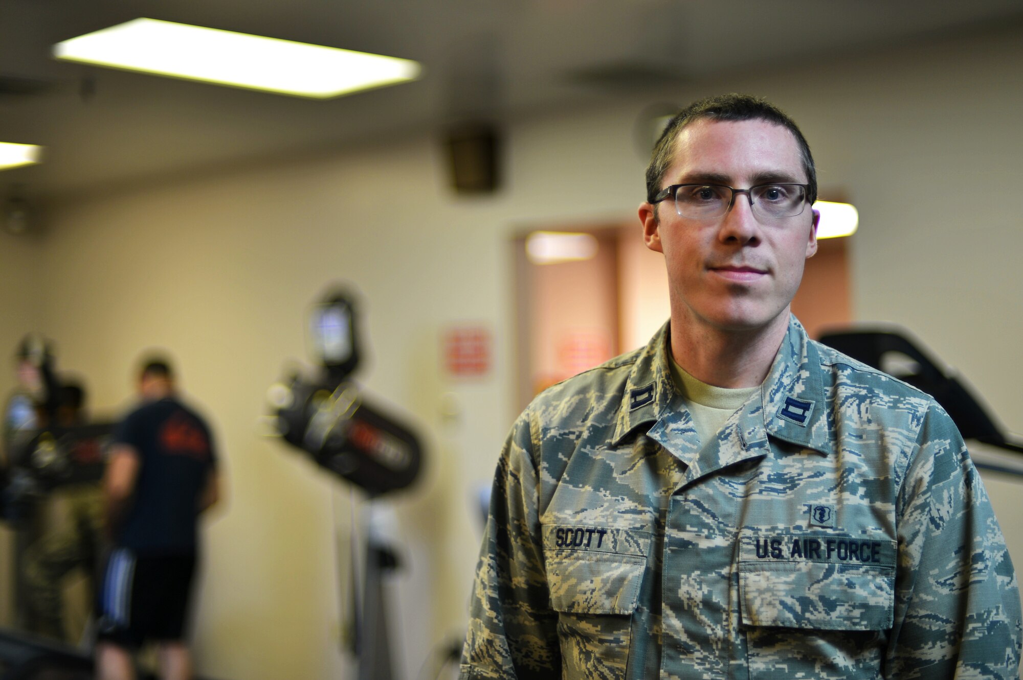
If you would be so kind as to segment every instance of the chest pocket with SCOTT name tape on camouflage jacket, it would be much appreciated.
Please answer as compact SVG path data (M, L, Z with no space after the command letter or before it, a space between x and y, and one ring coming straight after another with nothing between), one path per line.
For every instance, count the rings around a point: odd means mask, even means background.
M624 678L650 534L548 525L543 546L563 674Z

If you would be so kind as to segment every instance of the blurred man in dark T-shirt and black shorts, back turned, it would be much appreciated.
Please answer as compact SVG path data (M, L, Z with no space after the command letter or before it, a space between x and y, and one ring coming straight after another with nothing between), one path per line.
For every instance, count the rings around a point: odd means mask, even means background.
M97 677L135 677L133 652L159 647L165 680L191 677L185 641L198 515L219 496L206 421L178 398L163 358L143 363L142 404L115 433L103 480L112 552L99 588Z

